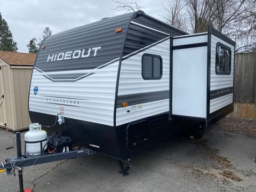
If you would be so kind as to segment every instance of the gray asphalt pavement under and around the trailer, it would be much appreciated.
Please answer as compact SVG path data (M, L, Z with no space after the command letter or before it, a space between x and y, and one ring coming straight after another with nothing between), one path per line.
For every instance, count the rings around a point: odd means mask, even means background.
M23 135L26 131L22 132ZM0 129L0 162L16 155L14 133ZM123 177L115 159L100 154L24 167L24 187L38 191L256 191L256 138L212 125L199 140L183 135L132 159ZM18 176L0 173L0 191L19 191Z

